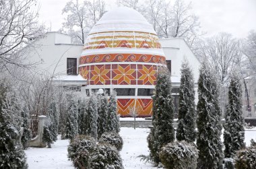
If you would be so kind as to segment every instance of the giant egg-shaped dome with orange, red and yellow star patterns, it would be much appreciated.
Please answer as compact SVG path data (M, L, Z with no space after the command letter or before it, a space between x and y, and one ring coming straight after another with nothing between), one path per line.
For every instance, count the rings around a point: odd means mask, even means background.
M115 90L121 116L131 110L150 116L156 73L164 65L153 26L134 9L118 7L105 13L88 34L79 74L88 79L87 92Z

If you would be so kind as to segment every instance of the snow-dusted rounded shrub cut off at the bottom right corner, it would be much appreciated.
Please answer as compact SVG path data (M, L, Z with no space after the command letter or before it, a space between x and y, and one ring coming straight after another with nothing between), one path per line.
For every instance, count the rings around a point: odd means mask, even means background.
M255 169L256 168L256 146L246 147L237 151L235 160L236 169Z

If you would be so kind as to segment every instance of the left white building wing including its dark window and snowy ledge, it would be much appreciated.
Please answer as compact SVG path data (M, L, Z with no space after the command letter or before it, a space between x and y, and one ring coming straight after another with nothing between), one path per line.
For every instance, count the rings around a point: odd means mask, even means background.
M57 85L86 86L86 79L78 75L77 69L83 46L72 44L67 34L47 32L44 37L35 40L34 48L28 51L28 58L31 63L38 63L37 73L53 76Z

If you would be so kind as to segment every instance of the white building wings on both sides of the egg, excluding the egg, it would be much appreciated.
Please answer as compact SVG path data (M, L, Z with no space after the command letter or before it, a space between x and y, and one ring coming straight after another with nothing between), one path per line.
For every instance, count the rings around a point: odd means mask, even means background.
M160 44L166 56L167 67L171 69L172 94L174 104L177 106L179 103L180 69L183 60L189 61L195 82L199 77L200 63L183 38L160 39ZM31 61L40 63L38 71L46 71L49 75L54 75L57 85L69 86L75 91L81 91L82 96L86 96L88 94L82 87L86 86L86 79L78 72L78 61L83 47L83 44L72 44L71 37L66 34L47 32L44 37L35 41L35 48L29 55ZM197 84L195 87L197 91ZM195 94L197 102L197 92Z

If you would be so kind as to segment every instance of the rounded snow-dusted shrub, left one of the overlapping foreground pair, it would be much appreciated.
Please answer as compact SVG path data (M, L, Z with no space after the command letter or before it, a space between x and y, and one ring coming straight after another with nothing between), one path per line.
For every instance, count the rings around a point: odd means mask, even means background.
M79 135L71 140L67 148L68 158L76 168L89 168L90 156L96 149L96 141L89 136Z

